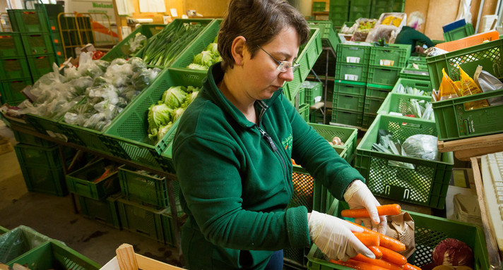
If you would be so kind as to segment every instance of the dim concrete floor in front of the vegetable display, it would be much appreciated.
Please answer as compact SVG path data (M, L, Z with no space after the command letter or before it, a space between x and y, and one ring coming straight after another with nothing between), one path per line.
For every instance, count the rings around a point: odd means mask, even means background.
M0 121L0 135L16 145L13 133ZM129 231L86 219L73 210L71 196L57 197L28 192L16 152L0 155L0 226L8 229L25 225L61 240L73 250L104 265L122 243L134 246L138 254L181 266L178 250Z

